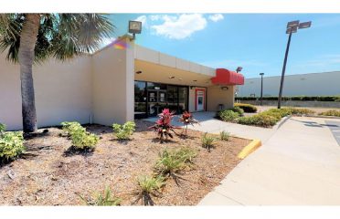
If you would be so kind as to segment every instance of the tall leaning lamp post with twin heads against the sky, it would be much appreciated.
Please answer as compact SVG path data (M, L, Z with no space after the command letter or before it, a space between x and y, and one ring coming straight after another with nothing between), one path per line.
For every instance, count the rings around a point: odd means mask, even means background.
M281 109L284 73L286 71L287 58L288 58L288 53L289 53L289 47L291 45L292 34L296 33L298 28L303 29L303 28L308 28L308 27L311 27L311 26L312 26L312 21L300 23L299 20L296 20L296 21L291 21L291 22L287 23L286 34L289 34L289 36L288 36L288 42L287 42L287 47L286 47L286 53L284 55L284 60L283 60L282 76L281 76L281 83L280 83L280 92L279 92L279 99L278 99L278 109Z

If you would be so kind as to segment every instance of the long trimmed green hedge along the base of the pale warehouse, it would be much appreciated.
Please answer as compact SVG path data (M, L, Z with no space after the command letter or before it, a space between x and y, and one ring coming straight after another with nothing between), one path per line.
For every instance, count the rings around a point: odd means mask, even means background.
M260 98L253 97L238 97L237 100L260 100ZM278 100L278 97L263 97L263 100ZM282 97L282 100L295 100L295 101L330 101L340 102L340 96L294 96Z

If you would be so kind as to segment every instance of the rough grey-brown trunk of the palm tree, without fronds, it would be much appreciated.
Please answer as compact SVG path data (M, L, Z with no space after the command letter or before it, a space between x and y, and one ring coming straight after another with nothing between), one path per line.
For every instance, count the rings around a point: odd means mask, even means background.
M32 76L32 66L35 58L34 49L40 25L40 15L27 14L22 26L18 59L20 64L22 117L24 132L37 130L37 113Z

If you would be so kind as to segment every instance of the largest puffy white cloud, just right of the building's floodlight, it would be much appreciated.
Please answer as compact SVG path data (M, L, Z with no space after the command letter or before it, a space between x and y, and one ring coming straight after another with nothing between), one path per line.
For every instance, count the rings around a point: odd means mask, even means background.
M173 39L184 39L207 26L207 19L200 14L184 14L180 16L161 16L154 19L163 21L160 25L151 26L155 34Z

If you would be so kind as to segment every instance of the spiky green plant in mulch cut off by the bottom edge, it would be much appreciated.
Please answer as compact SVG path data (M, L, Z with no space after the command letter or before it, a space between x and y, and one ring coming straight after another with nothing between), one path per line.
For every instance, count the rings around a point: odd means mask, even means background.
M121 198L112 194L112 191L108 186L105 187L103 193L97 193L96 195L87 199L80 195L80 199L87 205L94 206L117 206L122 202Z

